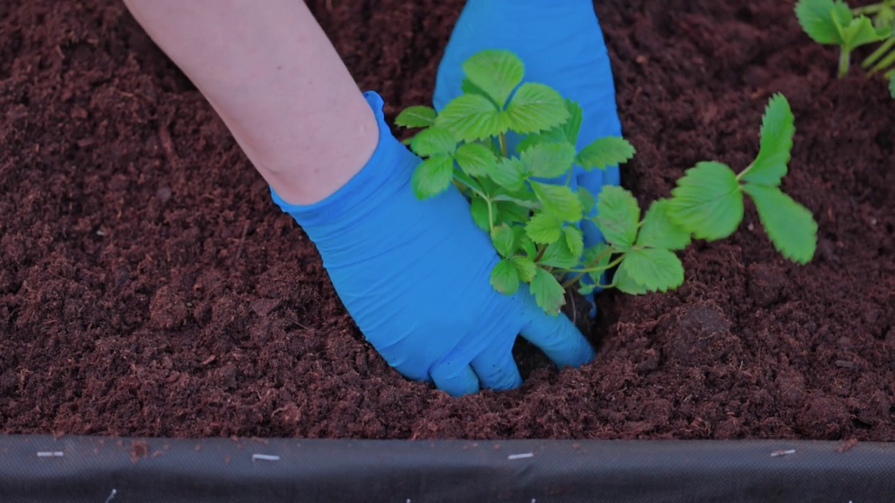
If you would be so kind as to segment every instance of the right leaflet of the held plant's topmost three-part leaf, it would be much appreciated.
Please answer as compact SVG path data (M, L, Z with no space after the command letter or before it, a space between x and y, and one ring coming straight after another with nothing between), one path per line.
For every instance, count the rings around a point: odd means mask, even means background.
M509 129L521 134L541 132L568 119L566 102L550 86L525 82L504 112Z

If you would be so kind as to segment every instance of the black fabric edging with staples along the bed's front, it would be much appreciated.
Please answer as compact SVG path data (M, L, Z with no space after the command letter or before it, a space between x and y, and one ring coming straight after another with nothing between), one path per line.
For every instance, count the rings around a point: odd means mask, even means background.
M895 501L895 445L0 436L3 503Z

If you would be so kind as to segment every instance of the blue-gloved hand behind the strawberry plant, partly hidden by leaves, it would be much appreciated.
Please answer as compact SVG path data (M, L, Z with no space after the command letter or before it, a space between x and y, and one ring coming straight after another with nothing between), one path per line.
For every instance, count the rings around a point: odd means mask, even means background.
M462 94L462 64L482 49L516 53L525 64L524 81L547 84L581 105L578 149L621 135L609 55L592 0L467 0L439 65L437 110ZM603 185L618 185L618 166L590 172L576 166L574 175L572 188L584 187L598 200ZM593 208L590 216L595 214ZM592 221L585 219L581 227L585 246L602 241Z

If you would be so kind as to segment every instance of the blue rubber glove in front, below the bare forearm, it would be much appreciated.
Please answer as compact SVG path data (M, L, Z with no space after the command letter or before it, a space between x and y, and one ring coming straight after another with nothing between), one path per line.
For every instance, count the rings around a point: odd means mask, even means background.
M565 315L544 313L527 289L505 295L490 286L499 257L469 203L453 185L416 198L410 179L422 160L392 136L379 95L365 96L379 144L361 172L312 205L271 192L317 245L367 340L406 377L454 396L519 386L511 350L520 334L559 366L591 361L591 346Z

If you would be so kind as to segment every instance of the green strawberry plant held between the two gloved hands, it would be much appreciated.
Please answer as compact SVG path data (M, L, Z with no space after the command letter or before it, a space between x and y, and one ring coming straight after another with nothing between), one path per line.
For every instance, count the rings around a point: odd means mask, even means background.
M782 96L771 99L750 166L737 175L718 162L699 163L669 199L652 202L642 215L634 195L621 187L603 187L598 200L570 185L574 166L606 169L632 158L628 141L605 137L577 150L581 107L547 85L523 83L524 64L510 52L482 51L463 69L463 94L440 113L408 107L396 123L422 129L406 141L424 159L413 174L416 196L434 197L454 183L470 201L473 221L490 234L501 258L490 272L499 292L514 294L528 284L538 305L556 313L568 287L581 294L677 288L684 268L675 252L694 237L732 234L743 217L744 193L777 250L802 264L814 256L814 218L780 191L795 132ZM520 139L516 151L507 146L510 134ZM600 228L605 243L585 246L583 218ZM602 283L616 267L612 282Z

